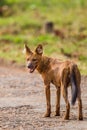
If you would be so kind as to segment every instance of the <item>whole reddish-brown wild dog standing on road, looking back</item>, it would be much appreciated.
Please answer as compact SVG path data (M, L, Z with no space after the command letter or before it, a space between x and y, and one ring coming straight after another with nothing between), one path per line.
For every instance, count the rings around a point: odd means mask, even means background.
M69 119L70 103L68 100L68 86L71 86L71 103L74 105L76 99L78 99L78 119L83 120L80 89L81 75L77 65L69 60L60 61L58 59L43 56L42 45L38 45L34 52L32 52L27 45L25 45L24 50L29 72L33 73L35 69L37 69L44 80L47 106L44 117L50 117L51 115L50 84L52 83L56 87L55 116L60 115L60 93L62 92L66 103L64 119Z

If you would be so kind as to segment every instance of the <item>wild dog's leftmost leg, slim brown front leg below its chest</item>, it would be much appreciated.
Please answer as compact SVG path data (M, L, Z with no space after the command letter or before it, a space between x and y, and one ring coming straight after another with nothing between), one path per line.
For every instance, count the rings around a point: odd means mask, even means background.
M50 85L45 86L45 94L46 94L46 113L44 117L50 117L51 114L51 104L50 104Z

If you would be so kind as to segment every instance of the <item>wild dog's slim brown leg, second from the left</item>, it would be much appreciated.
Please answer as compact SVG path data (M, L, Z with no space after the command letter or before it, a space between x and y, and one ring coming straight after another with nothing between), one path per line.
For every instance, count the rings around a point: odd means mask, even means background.
M56 88L56 112L55 116L60 116L60 87Z

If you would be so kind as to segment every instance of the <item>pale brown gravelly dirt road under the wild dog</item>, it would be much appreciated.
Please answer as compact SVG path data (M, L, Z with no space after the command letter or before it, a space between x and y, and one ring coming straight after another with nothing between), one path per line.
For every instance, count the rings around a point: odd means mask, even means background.
M62 97L61 116L54 116L54 86L51 86L51 118L43 118L46 106L43 86L37 72L29 74L23 68L0 66L0 130L87 130L87 77L82 77L81 83L83 121L77 120L77 102L71 106L70 120L63 120L65 103Z

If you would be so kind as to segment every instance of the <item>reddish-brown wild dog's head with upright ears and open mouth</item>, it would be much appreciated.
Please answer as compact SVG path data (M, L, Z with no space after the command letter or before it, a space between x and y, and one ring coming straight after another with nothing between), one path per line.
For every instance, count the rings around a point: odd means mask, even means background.
M26 55L27 68L29 69L29 72L32 73L41 62L43 47L41 44L39 44L35 51L32 52L27 45L24 45L24 53Z

